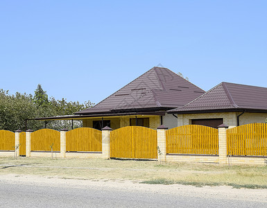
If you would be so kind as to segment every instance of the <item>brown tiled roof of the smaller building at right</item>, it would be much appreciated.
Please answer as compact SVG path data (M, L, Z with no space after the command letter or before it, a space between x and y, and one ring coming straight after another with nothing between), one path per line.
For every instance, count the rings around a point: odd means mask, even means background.
M267 111L267 88L234 83L221 83L183 107L169 112L197 113L246 110Z

